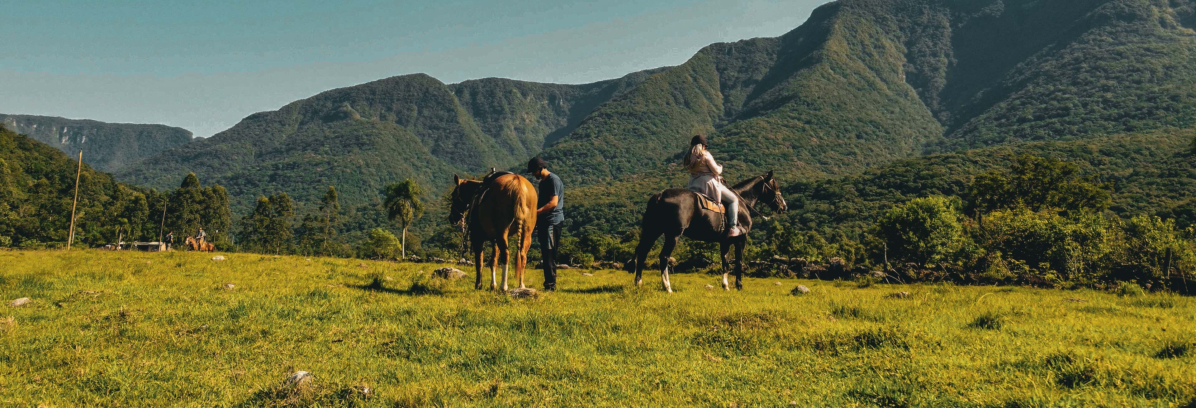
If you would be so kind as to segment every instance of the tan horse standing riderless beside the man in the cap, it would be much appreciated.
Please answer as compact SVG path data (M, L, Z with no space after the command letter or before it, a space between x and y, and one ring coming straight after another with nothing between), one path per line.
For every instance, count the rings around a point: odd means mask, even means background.
M456 187L452 190L452 211L448 221L453 225L468 223L469 242L474 250L474 267L477 278L474 288L482 288L482 245L494 243L494 262L490 263L490 290L498 288L495 267L502 262L502 291L507 290L507 270L509 252L507 239L519 235L518 255L515 257L515 278L519 287L524 285L524 269L527 267L527 249L531 248L531 232L536 229L536 188L523 176L515 173L492 173L487 179L489 187L476 179L462 179L453 175ZM465 214L469 213L469 219Z

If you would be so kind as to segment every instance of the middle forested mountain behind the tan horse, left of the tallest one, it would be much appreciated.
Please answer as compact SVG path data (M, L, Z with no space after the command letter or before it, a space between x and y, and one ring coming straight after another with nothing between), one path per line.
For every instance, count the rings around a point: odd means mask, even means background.
M392 77L250 115L117 177L170 187L195 171L226 185L242 208L263 193L310 201L328 185L336 185L346 203L361 205L386 182L408 177L438 194L453 172L518 166L651 74L585 85L501 78L445 85L425 74Z

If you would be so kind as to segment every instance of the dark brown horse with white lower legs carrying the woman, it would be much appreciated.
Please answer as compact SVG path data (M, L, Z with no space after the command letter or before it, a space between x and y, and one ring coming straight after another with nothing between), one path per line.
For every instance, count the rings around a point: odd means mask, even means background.
M788 211L785 197L781 196L773 172L756 176L739 182L731 188L739 194L739 225L746 231L751 231L752 207L763 201L777 214ZM671 188L648 199L648 207L643 211L641 223L640 244L635 248L635 285L643 285L643 264L648 257L652 245L657 238L665 236L665 245L660 250L660 280L665 291L672 293L672 284L669 281L669 256L682 236L702 242L716 242L721 245L722 257L722 288L730 291L727 285L727 251L731 245L736 246L736 288L743 290L744 274L744 245L748 243L748 235L727 237L722 230L722 213L703 209L703 197L697 193L683 188Z

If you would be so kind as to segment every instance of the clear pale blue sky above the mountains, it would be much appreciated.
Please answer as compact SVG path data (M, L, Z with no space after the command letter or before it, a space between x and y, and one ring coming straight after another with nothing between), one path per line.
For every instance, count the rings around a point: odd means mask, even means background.
M415 72L580 84L779 36L823 0L22 1L0 112L208 136L324 90Z

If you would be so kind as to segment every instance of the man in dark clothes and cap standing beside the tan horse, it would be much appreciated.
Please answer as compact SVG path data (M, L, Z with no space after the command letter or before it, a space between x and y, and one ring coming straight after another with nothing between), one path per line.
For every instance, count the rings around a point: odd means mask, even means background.
M527 162L527 172L539 179L536 227L544 290L556 291L556 246L561 243L561 223L565 221L565 184L561 177L548 171L548 163L538 157Z

